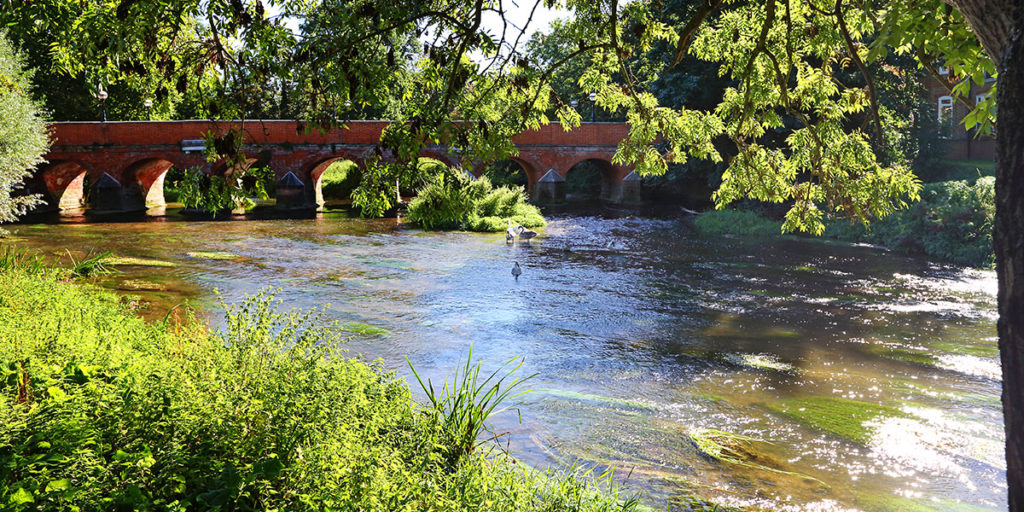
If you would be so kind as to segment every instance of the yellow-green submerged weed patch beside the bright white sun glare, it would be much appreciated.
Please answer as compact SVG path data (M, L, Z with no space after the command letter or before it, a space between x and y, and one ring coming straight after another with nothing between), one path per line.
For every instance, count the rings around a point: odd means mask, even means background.
M871 439L866 422L878 418L906 417L906 413L889 406L834 396L790 398L768 409L797 422L858 444Z

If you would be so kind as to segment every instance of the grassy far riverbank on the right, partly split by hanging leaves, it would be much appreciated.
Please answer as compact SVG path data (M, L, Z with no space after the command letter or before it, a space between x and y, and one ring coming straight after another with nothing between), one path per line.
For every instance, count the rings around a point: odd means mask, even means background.
M936 261L990 268L995 180L991 177L928 183L921 201L867 226L849 220L826 223L822 238L871 244ZM755 209L706 212L694 221L705 234L780 236L781 221Z

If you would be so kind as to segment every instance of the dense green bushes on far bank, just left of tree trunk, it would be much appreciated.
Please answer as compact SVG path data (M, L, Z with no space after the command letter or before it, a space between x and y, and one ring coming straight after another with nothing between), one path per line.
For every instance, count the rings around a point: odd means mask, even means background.
M962 265L992 266L995 178L926 184L921 201L867 226L834 221L825 236Z

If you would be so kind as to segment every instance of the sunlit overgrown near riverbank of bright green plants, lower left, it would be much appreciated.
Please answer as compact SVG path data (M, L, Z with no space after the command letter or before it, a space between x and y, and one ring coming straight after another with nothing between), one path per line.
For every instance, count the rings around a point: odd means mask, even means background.
M468 410L417 406L404 381L347 358L318 312L261 293L226 306L215 332L183 307L148 323L131 298L6 261L9 510L637 508L593 476L474 450L453 414ZM479 404L480 389L460 397Z

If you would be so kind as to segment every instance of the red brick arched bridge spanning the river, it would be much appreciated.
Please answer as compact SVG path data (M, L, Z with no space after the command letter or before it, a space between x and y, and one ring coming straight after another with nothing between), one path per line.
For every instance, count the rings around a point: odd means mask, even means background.
M381 121L355 121L347 128L326 133L306 132L296 121L249 121L241 126L246 136L244 151L256 162L269 156L267 166L275 174L276 203L281 209L310 209L323 204L321 175L338 160L351 160L360 167L374 155ZM29 182L41 194L49 209L85 206L84 186L89 183L89 208L95 211L141 210L164 204L164 177L172 167L198 167L222 174L223 162L207 162L202 151L204 135L223 133L228 122L151 121L83 122L51 125L53 144ZM566 132L558 124L527 131L513 139L519 154L511 160L526 173L535 200L564 195L564 177L574 165L593 161L602 170L602 196L612 201L630 196L636 184L631 167L614 165L611 157L628 126L622 123L585 123ZM197 145L199 148L197 148ZM453 164L441 146L426 146L421 157ZM485 164L474 169L475 174ZM549 172L549 171L554 172ZM88 176L88 180L86 180Z

